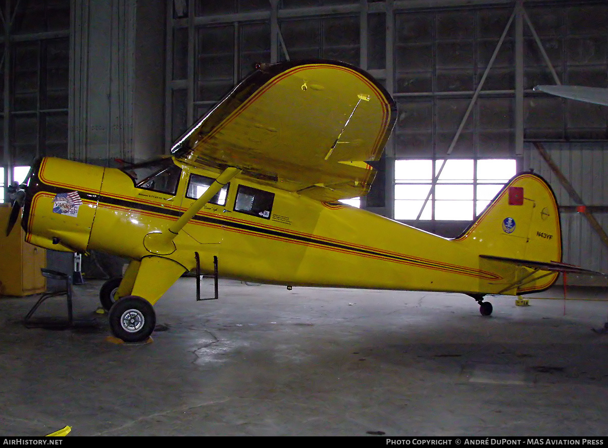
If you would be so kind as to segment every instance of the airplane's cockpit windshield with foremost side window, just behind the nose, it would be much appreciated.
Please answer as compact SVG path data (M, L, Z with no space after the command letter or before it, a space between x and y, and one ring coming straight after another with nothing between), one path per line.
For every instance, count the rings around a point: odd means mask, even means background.
M137 188L175 195L178 191L181 168L172 159L154 160L131 165L122 170L128 174Z

